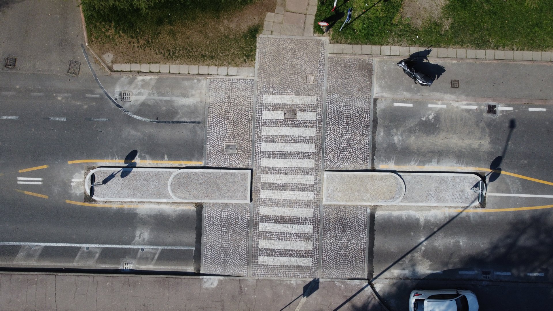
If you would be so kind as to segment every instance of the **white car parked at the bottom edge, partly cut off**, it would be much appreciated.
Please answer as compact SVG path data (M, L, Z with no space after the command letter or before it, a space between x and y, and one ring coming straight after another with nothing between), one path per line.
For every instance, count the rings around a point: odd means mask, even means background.
M409 311L478 311L478 300L471 291L436 289L411 292Z

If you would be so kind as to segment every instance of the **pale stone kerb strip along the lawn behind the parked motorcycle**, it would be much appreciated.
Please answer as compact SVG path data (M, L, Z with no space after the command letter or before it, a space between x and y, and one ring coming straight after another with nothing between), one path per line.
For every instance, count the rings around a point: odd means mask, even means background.
M328 53L409 56L426 48L417 46L328 44ZM431 49L428 57L496 60L552 61L551 51L513 51L476 49Z

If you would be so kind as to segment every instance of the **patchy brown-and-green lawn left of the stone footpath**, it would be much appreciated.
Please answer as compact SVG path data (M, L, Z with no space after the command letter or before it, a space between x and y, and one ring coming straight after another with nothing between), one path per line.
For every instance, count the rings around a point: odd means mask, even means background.
M248 3L249 2L249 3ZM253 66L257 35L276 0L168 0L147 12L83 6L88 42L112 63Z

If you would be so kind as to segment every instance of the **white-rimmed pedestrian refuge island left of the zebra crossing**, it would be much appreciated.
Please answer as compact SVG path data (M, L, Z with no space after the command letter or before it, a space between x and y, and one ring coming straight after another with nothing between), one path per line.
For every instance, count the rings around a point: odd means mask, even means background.
M251 177L248 169L101 167L85 189L97 201L249 203Z

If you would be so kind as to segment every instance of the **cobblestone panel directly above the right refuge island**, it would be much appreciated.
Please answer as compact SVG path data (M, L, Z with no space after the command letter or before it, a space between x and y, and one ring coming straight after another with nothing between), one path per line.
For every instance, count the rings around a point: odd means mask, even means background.
M372 59L328 57L325 169L371 168Z

